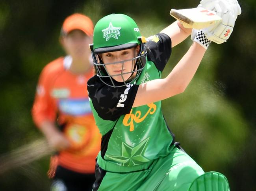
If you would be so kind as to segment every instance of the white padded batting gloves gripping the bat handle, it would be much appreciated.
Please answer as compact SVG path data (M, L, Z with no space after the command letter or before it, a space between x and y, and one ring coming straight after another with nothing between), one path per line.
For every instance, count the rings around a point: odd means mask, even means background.
M222 18L222 22L202 29L208 40L217 44L226 42L233 32L237 15L241 14L241 7L237 0L201 0L198 7L210 11L216 11L216 15ZM191 39L195 39L198 30L193 29Z

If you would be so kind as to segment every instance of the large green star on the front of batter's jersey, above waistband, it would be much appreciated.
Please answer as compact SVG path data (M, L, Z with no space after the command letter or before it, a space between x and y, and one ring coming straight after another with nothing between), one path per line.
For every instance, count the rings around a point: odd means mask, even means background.
M140 142L138 145L131 147L125 142L122 142L122 156L105 155L117 162L121 162L122 166L135 166L143 162L149 162L144 155L148 138Z

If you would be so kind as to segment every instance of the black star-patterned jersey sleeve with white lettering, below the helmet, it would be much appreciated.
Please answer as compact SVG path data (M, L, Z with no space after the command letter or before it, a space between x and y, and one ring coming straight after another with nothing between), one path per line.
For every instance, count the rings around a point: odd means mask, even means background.
M119 116L130 113L139 85L127 84L123 87L110 87L98 76L87 82L89 98L93 107L104 120L115 121Z

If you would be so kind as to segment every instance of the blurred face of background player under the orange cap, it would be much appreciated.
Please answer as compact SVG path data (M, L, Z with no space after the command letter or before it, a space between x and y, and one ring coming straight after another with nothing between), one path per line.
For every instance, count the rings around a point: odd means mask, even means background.
M72 58L80 59L90 55L89 44L92 43L92 38L81 30L71 31L63 37L62 42L65 51Z

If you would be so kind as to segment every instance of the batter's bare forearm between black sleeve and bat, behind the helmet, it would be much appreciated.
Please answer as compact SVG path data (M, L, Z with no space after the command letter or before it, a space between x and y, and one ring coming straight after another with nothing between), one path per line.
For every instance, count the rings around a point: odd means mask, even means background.
M174 47L184 41L191 34L191 31L192 29L186 29L179 21L175 21L173 24L163 29L161 33L165 33L171 38L172 47Z

